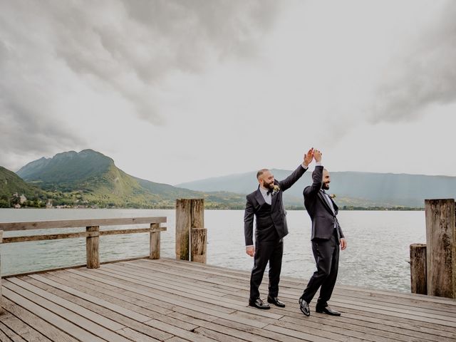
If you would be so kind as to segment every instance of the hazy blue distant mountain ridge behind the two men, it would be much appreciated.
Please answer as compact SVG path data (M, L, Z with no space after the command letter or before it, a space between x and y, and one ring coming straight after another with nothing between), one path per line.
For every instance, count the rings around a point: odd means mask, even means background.
M277 180L289 170L271 170ZM208 178L176 185L197 191L232 191L248 194L257 188L256 172ZM284 192L286 205L302 205L304 187L311 184L308 171ZM347 207L424 207L430 198L455 198L456 177L407 175L373 172L331 172L331 189L339 206Z

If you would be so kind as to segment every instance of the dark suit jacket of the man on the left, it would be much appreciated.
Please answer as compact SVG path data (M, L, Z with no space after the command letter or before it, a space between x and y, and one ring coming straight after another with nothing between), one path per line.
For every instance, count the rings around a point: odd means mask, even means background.
M284 180L274 180L274 184L279 185L280 190L272 197L270 206L264 202L259 187L256 191L247 195L244 213L244 237L246 246L254 244L254 216L257 217L255 229L255 240L257 242L274 241L276 239L281 239L288 234L282 192L289 189L291 185L294 185L294 183L304 175L306 170L307 169L304 169L302 165L299 165L299 167Z

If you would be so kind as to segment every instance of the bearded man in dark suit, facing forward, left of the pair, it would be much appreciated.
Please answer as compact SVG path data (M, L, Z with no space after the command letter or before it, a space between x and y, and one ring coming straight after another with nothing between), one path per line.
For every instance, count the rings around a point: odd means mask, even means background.
M267 169L259 170L257 180L258 190L247 195L244 213L244 236L246 252L254 257L254 267L250 278L249 306L257 309L269 309L259 297L259 286L263 279L266 264L269 262L269 294L267 301L283 308L277 298L279 280L284 252L283 238L288 234L286 212L282 202L282 192L304 175L313 159L313 149L304 155L304 162L286 179L280 182L274 180L274 175ZM254 217L257 219L255 229L255 245L253 242Z

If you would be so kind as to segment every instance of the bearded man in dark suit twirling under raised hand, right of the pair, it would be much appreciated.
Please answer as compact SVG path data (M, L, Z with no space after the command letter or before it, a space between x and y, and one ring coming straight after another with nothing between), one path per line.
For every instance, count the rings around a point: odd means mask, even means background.
M346 249L347 244L337 220L338 207L325 190L329 190L331 178L328 170L321 165L321 152L314 150L316 167L312 173L313 183L304 189L304 205L312 221L312 252L316 261L316 271L309 280L304 294L299 299L302 313L310 316L309 303L320 288L316 302L316 312L341 316L328 306L336 284L339 264L339 245Z

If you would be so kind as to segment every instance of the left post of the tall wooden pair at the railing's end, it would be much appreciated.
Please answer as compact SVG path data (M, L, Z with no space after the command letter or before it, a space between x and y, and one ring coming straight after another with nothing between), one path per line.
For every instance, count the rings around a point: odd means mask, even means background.
M191 199L176 199L176 259L190 260Z

